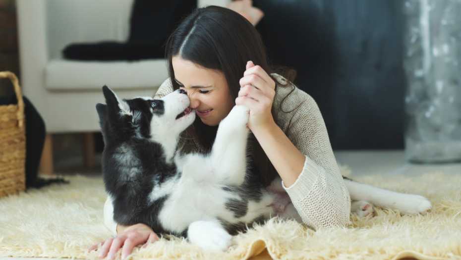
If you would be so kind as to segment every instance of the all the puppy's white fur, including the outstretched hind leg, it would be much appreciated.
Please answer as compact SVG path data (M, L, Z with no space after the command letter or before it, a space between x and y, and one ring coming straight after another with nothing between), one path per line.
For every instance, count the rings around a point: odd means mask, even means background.
M271 207L277 195L270 193L263 193L259 202L250 201L247 214L243 217L235 217L225 206L230 199L242 199L223 187L239 186L245 179L249 108L243 105L232 108L219 125L209 155L179 155L176 153L179 133L193 122L195 114L176 119L189 106L187 95L173 92L162 100L165 102L165 112L162 116L152 118L151 129L155 129L151 133L152 141L163 146L166 161L174 162L181 174L153 187L149 200L154 202L168 195L158 215L165 228L177 232L188 228L187 236L192 244L205 250L226 250L231 245L232 236L223 228L217 216L229 223L251 222L261 215L276 215L274 208L277 210L277 207ZM129 113L128 105L121 100L118 102L122 113ZM137 118L133 115L133 120ZM129 153L123 154L129 157ZM135 163L135 158L132 159ZM374 205L407 214L424 214L431 208L431 203L422 196L400 194L347 179L345 183L352 200L351 212L359 217L372 214ZM280 216L302 221L289 201L280 178L268 190L280 193L282 203L280 212L277 212Z

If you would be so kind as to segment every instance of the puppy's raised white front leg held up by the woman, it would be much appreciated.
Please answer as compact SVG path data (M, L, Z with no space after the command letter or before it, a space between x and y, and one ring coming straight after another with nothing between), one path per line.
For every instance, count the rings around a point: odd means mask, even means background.
M208 159L212 171L223 184L238 186L245 179L248 116L248 107L235 105L219 124Z

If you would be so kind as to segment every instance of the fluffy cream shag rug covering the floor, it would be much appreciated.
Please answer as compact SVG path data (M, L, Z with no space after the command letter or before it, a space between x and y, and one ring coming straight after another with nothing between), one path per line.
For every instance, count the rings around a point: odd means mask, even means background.
M98 259L88 252L111 232L103 225L103 181L68 177L70 184L0 199L0 257ZM433 209L424 216L377 209L377 216L351 217L346 228L312 231L293 221L271 219L234 237L228 252L204 253L187 241L161 239L135 248L128 260L248 259L265 247L274 259L461 259L460 175L368 176L357 181L423 195ZM119 252L120 254L120 252ZM118 254L117 258L120 257Z

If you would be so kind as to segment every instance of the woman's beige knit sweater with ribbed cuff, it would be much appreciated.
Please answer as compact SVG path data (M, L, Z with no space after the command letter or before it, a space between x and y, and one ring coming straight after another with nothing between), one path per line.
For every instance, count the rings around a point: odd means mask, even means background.
M273 76L279 82L285 83L283 77L277 74ZM162 98L171 92L171 80L167 79L154 98ZM296 182L288 188L283 185L294 207L303 222L314 229L346 226L349 223L350 197L317 104L307 93L293 85L277 86L273 104L279 127L306 156L304 167ZM110 198L104 207L104 220L105 224L116 232Z

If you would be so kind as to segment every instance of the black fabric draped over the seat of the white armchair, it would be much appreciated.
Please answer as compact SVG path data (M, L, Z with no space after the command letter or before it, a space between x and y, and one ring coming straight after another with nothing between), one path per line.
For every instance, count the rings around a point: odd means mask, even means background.
M141 60L165 57L165 43L196 0L135 0L127 42L76 43L64 48L64 58L76 60Z

